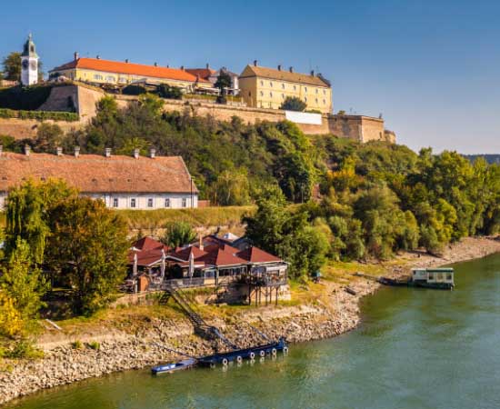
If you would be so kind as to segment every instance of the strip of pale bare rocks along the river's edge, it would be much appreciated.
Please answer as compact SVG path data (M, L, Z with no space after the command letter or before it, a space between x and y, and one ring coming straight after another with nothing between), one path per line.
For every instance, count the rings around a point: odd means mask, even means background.
M387 275L401 277L409 274L411 266L438 266L457 263L487 254L500 252L500 241L492 237L465 238L445 249L442 257L428 254L401 254L398 263L387 264ZM385 267L385 265L383 264ZM362 271L362 266L360 266ZM373 294L380 284L365 277L357 277L349 286L355 294L345 292L345 285L324 282L327 303L314 305L262 307L239 313L221 327L229 339L242 346L262 343L262 338L247 324L252 324L273 338L285 336L289 342L305 342L331 338L355 328L360 322L359 300ZM238 322L239 324L232 324ZM118 330L100 337L80 338L82 344L71 344L75 334L67 334L58 342L41 343L45 357L37 361L6 362L0 372L0 404L37 390L71 384L89 377L117 371L140 369L165 361L175 360L175 353L162 345L181 348L186 354L209 354L208 343L193 334L187 320L153 319L135 334ZM99 344L91 344L90 340ZM5 370L8 366L8 370Z

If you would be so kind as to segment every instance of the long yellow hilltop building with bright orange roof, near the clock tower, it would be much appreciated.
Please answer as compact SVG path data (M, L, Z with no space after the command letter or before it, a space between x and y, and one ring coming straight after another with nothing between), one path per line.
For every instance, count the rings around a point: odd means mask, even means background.
M73 61L55 67L49 75L51 77L63 75L71 80L97 85L127 85L146 82L178 86L186 91L194 91L195 88L200 87L213 87L209 81L199 75L188 73L182 68L132 64L128 61L117 62L100 58L80 58L77 53Z

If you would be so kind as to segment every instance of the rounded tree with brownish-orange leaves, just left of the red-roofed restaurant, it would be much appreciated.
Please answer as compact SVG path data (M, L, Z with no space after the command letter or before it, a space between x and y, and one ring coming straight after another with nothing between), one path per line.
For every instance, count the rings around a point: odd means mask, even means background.
M74 311L95 313L125 278L124 220L100 200L72 197L55 206L51 231L47 259L71 284Z

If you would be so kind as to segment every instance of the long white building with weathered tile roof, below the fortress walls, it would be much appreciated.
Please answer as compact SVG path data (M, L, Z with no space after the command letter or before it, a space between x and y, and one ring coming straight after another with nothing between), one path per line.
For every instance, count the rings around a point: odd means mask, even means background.
M82 195L101 199L115 209L153 210L198 206L198 190L181 156L54 155L3 152L0 146L0 210L8 190L28 179L63 179Z

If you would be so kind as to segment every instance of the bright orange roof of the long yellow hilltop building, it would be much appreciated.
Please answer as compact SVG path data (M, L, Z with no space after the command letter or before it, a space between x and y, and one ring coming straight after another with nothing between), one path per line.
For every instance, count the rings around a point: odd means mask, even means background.
M196 82L196 75L177 68L122 63L119 61L101 60L97 58L78 58L77 60L71 61L65 65L55 67L53 70L51 70L51 72L69 70L74 68L95 70L104 73L142 75L152 78L165 78L177 81L188 81L192 83ZM208 83L208 81L203 77L200 77L199 82Z

